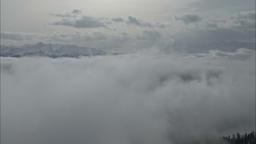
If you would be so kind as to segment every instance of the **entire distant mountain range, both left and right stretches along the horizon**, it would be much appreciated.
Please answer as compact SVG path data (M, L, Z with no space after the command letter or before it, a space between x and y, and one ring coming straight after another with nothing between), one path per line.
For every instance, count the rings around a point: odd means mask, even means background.
M245 48L255 50L255 43L246 43L239 41L218 41L205 45L189 45L185 51L189 53L204 53L209 50L220 50L224 52L234 52L237 49ZM176 47L177 51L183 51L184 47ZM1 45L0 54L2 57L22 57L22 56L48 56L57 57L79 57L79 56L102 56L118 55L115 52L106 52L94 48L82 47L69 44L26 44L22 46Z

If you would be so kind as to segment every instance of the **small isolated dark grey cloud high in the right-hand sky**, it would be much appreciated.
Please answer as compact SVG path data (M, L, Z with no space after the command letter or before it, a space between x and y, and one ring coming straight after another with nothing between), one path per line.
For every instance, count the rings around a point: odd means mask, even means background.
M175 21L182 21L186 25L189 23L200 22L202 17L197 14L177 14L173 16Z

